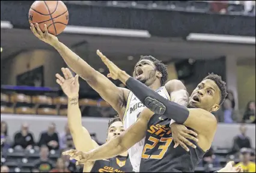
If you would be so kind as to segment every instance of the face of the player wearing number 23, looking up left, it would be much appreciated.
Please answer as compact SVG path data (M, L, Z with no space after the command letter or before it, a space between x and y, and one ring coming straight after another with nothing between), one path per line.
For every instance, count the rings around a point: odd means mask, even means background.
M218 111L221 91L213 80L200 82L189 97L188 108L201 108L206 111Z

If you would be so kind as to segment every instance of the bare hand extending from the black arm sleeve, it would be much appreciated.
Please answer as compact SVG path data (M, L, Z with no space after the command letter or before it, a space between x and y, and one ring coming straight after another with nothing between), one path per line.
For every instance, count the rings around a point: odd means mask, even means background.
M121 69L117 67L112 61L110 61L108 58L106 58L105 55L100 52L100 50L97 50L97 55L100 56L104 64L108 67L109 74L108 77L111 77L114 80L118 79L118 75L121 73Z

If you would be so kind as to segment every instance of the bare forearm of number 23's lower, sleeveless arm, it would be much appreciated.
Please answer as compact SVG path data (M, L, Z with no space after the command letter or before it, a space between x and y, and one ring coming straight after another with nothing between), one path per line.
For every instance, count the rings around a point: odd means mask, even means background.
M101 145L100 147L89 151L89 161L109 159L124 153L126 151L126 148L120 145L120 140L120 136L118 136L117 138L111 139L109 142L106 142L104 145Z

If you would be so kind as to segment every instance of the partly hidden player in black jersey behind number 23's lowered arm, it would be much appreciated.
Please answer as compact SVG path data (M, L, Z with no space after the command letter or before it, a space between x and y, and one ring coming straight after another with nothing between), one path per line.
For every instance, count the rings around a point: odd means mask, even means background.
M73 77L68 68L62 68L61 70L64 77L56 74L56 82L59 83L64 93L69 98L67 117L75 147L85 152L93 150L99 147L99 145L91 139L90 133L82 126L81 111L78 105L78 75ZM119 117L109 120L107 141L123 132L124 127ZM86 163L84 165L84 172L132 172L132 165L127 156L127 151L124 151L120 153L119 156L112 157L108 160L97 160L95 162Z

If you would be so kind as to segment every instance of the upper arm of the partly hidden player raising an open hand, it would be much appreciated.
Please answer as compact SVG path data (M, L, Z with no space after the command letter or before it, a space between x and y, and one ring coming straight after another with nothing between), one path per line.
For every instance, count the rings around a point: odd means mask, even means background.
M73 142L75 144L76 150L88 152L93 150L96 147L91 135L85 127L82 127L81 130L77 130L75 133L72 133Z

